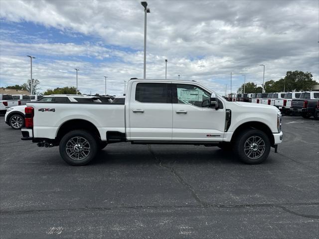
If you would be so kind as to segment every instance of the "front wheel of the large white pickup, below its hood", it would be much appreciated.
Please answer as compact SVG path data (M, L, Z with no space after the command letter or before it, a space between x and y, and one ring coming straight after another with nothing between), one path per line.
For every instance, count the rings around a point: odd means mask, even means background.
M258 129L248 129L237 136L234 151L244 163L259 164L267 159L270 146L266 133Z

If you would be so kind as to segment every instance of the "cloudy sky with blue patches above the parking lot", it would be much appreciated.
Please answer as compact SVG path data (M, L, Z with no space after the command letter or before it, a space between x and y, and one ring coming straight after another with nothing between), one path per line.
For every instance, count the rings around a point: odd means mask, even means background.
M149 0L147 78L196 80L224 94L288 70L319 81L319 1ZM75 86L121 95L143 78L144 10L138 0L1 0L0 86L33 78L40 91Z

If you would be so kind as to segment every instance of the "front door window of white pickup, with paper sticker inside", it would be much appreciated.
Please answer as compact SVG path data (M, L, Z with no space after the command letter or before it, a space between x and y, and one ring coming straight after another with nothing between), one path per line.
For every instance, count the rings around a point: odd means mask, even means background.
M210 95L207 91L194 85L177 84L177 103L197 107L209 106Z

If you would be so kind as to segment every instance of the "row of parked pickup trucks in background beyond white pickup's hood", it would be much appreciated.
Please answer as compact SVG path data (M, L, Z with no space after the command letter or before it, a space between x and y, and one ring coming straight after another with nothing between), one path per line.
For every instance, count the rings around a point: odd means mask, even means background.
M251 102L277 107L286 115L300 114L303 118L319 119L319 91L229 94L231 102Z

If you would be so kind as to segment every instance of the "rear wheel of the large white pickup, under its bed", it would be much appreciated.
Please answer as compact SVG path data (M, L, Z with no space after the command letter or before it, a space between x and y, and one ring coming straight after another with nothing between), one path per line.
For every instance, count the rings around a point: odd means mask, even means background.
M96 155L99 145L96 138L85 130L73 130L65 134L59 145L65 162L74 166L89 163Z

